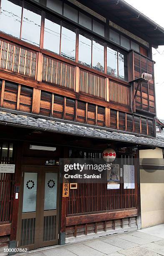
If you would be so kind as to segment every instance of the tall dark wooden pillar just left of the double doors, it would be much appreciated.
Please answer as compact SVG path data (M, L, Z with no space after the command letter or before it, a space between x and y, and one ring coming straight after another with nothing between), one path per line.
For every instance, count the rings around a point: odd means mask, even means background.
M22 158L23 158L23 143L20 142L17 145L15 145L14 198L13 198L11 235L10 235L9 248L17 247L18 209L19 209L20 192L18 192L18 199L16 199L15 188L18 187L20 191L20 184L21 184L21 178L22 178Z

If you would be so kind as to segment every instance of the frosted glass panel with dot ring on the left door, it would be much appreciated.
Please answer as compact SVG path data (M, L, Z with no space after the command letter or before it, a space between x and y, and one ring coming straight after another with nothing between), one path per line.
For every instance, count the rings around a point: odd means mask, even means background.
M25 172L22 212L36 211L37 173Z

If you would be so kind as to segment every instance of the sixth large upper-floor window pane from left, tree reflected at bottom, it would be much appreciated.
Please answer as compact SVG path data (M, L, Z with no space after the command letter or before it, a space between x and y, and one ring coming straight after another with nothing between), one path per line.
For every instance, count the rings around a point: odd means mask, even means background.
M93 39L92 67L104 71L104 44L96 39Z

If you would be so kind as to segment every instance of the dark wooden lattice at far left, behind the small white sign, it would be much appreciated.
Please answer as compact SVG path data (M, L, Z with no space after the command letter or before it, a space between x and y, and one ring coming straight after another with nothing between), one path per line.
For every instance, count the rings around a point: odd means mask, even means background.
M13 164L13 143L0 143L0 164ZM10 221L13 174L0 173L0 222Z

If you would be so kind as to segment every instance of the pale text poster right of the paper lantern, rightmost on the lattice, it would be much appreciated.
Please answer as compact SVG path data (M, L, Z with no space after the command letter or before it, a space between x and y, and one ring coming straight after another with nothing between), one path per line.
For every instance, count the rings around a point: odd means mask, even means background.
M135 189L134 165L124 165L124 189Z

